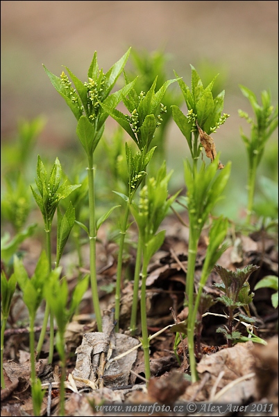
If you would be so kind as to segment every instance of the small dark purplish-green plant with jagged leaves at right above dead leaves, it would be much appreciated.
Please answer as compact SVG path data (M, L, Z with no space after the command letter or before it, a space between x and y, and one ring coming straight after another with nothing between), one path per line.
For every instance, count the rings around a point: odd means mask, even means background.
M228 309L228 326L218 328L217 332L223 333L228 341L229 348L238 341L246 341L246 339L242 339L241 332L237 330L239 323L247 323L248 325L255 323L249 311L249 303L253 301L254 294L250 292L250 285L247 280L252 272L258 268L256 265L247 265L243 269L237 268L236 271L230 271L221 267L221 265L215 265L214 267L214 271L219 274L222 280L222 283L215 283L214 286L224 293L217 297L217 301L226 305ZM235 313L235 310L239 307L244 308L247 315L239 311ZM234 325L235 319L238 320L236 326Z

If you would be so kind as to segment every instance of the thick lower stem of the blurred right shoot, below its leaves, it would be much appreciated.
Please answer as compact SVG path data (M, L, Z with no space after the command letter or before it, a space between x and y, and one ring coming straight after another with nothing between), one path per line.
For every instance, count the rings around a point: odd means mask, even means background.
M196 266L196 254L198 251L198 239L196 234L190 228L189 232L189 249L188 249L188 263L187 263L187 277L186 277L186 295L188 301L188 319L187 319L187 338L189 351L189 364L192 375L192 383L196 382L198 377L196 373L196 359L194 353L194 330L195 319L194 316L194 273Z

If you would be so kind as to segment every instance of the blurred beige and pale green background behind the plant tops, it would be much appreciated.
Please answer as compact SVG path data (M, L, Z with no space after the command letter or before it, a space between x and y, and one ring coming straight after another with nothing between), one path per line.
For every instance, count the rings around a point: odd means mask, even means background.
M174 78L175 70L190 85L189 64L204 85L220 74L216 92L226 90L224 112L230 118L214 134L214 141L221 161L233 162L220 211L241 218L247 159L239 126L247 134L250 127L237 109L253 114L239 84L259 99L260 91L270 90L273 104L278 102L278 1L1 1L2 147L12 145L19 118L42 114L47 123L29 162L33 177L37 153L52 163L58 156L70 174L76 153L83 157L76 120L42 64L58 76L62 65L68 66L85 81L94 51L99 65L108 71L130 46L150 54L163 51L168 79ZM134 71L131 58L126 69ZM178 86L171 88L180 94ZM185 105L182 109L186 112ZM106 125L109 136L116 123L108 118ZM259 172L273 181L278 178L277 134L276 130L267 144ZM7 158L8 153L3 155ZM183 159L188 156L186 140L171 121L167 134L167 164L175 169L171 190L183 184ZM3 167L6 163L2 159ZM258 189L257 199L267 196Z

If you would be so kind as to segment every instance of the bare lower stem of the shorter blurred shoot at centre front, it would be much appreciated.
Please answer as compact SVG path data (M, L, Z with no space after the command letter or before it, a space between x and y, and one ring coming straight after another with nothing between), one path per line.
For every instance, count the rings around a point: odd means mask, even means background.
M144 368L145 378L150 380L150 362L149 362L149 334L147 330L147 319L146 319L146 277L147 267L149 265L149 259L144 256L144 262L142 264L142 293L140 296L140 314L142 319L142 348L144 350ZM148 382L147 382L148 384Z

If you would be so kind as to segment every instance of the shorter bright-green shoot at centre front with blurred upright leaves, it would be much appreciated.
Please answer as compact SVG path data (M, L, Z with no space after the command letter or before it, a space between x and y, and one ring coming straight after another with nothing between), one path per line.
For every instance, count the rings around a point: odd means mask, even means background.
M137 227L139 230L138 245L142 248L142 293L141 293L141 322L142 322L142 347L144 350L144 365L146 379L150 379L149 364L149 335L146 321L146 278L149 261L164 242L165 231L158 231L162 220L167 215L169 207L176 199L178 193L168 199L167 186L172 172L167 175L166 163L158 170L156 178L150 178L140 190L140 202L130 204ZM157 234L156 234L157 233ZM140 280L140 276L137 278ZM137 303L137 293L134 292L134 300Z

